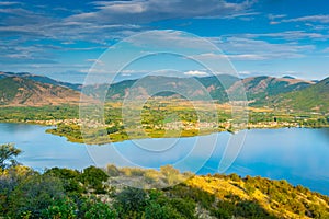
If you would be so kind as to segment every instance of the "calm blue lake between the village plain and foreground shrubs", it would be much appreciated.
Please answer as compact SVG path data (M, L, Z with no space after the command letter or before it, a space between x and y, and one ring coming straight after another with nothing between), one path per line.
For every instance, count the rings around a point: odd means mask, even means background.
M197 174L237 173L260 175L309 187L329 195L329 129L281 128L246 130L237 159L224 157L235 138L228 132L191 138L128 140L105 146L72 143L46 134L48 127L0 124L0 143L13 142L23 150L19 161L35 170L61 166L83 169L114 163L120 166L158 169L172 164ZM231 142L232 145L227 145ZM234 157L238 149L228 157ZM230 161L234 161L229 165ZM224 168L223 168L224 166ZM222 170L222 171L220 171Z

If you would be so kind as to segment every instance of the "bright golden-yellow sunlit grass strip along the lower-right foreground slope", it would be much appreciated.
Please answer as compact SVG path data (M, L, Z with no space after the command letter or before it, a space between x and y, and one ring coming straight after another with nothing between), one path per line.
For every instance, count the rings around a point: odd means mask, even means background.
M315 217L315 209L324 212L319 218L329 217L328 197L311 193L302 186L294 187L285 181L196 176L190 180L188 185L214 194L218 199L237 196L241 200L257 203L277 218Z

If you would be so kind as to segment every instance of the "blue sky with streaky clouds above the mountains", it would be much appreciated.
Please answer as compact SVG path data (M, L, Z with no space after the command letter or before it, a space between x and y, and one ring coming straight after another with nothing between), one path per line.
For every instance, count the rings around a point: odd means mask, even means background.
M329 76L328 24L327 0L4 0L0 71L79 83L117 69L120 80L202 77L202 64L225 55L241 78L319 80ZM145 56L127 61L137 50Z

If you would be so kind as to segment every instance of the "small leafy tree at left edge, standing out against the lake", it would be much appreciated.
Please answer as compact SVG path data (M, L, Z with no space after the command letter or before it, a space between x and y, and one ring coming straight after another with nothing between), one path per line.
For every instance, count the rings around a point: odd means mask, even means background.
M5 143L0 146L0 169L4 170L10 166L19 164L14 159L22 151L16 149L12 143Z

